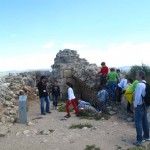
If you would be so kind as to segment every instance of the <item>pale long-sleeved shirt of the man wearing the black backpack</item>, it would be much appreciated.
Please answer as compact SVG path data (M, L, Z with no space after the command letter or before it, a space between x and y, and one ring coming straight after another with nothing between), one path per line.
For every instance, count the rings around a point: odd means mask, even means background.
M145 92L145 88L146 85L142 82L145 82L145 80L139 82L135 88L135 96L134 96L134 107L136 108L137 105L142 105L143 104L143 99L142 96L144 97L146 92Z

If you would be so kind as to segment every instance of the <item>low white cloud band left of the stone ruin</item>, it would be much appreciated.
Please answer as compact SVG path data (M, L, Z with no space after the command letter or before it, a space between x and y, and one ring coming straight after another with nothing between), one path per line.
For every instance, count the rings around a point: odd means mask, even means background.
M0 59L0 71L50 68L55 55L49 52Z

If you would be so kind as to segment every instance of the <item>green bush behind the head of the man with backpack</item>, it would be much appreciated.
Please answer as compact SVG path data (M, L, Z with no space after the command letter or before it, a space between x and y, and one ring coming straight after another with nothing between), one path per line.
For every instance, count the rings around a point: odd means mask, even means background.
M146 74L146 81L150 83L150 66L142 64L141 66L132 66L130 71L127 73L126 78L136 79L136 72L138 70L143 70Z

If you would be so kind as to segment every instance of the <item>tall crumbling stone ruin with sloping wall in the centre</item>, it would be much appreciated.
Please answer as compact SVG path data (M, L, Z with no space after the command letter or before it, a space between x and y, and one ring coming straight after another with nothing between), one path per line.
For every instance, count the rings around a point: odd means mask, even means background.
M77 51L64 49L60 50L52 65L53 80L60 85L61 97L66 99L65 83L71 82L74 86L75 95L89 102L97 100L99 70L96 64L90 64L86 59L80 58Z

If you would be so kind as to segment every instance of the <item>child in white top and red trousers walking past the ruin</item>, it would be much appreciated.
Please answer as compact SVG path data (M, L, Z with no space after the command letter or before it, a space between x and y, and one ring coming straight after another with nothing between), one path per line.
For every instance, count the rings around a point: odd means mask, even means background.
M75 109L76 116L78 116L78 108L76 106L76 98L75 98L75 95L74 95L74 92L73 92L73 85L70 82L67 82L66 87L67 87L67 94L68 94L68 102L66 104L67 115L65 116L65 118L71 117L70 109L69 109L69 106L71 104L72 104L73 108Z

